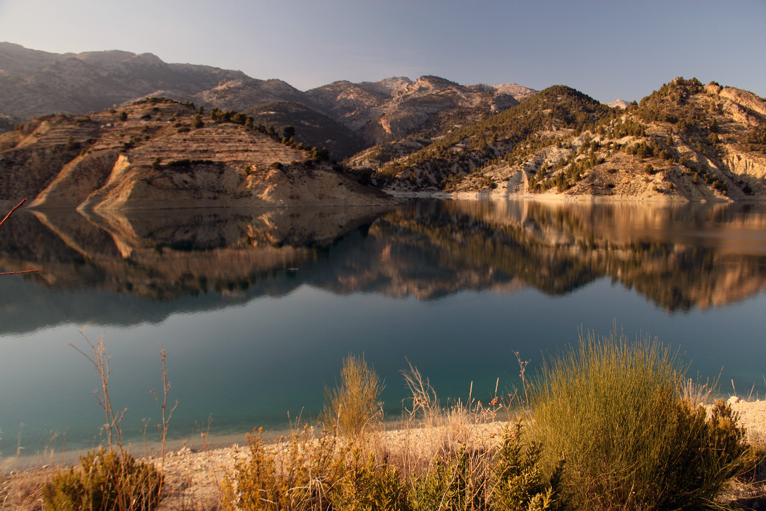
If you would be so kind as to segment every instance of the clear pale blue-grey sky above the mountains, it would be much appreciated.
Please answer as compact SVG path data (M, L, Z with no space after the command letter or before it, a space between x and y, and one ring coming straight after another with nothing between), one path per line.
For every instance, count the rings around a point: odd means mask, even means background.
M766 96L766 1L0 0L0 41L120 49L301 90L437 74L639 100L676 76Z

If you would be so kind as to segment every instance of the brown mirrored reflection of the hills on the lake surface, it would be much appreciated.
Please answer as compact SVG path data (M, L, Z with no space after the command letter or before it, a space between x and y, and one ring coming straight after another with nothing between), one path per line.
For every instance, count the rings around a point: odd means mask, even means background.
M0 298L6 333L62 321L159 321L283 296L304 283L339 294L434 300L525 286L559 295L608 276L657 306L686 311L766 288L766 211L748 204L481 201L394 209L24 211L0 237L0 267L38 268L28 280L51 290L102 292L96 309L87 306L93 299L87 293L67 303L43 296L41 303L28 286L6 280L14 290ZM34 318L20 314L33 303Z

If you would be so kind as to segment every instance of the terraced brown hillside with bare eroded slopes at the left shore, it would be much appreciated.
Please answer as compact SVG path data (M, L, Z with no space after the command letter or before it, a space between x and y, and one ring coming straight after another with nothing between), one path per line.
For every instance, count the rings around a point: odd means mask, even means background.
M42 116L0 135L0 201L34 208L381 205L327 153L244 114L154 98L90 116ZM280 142L283 140L283 143Z

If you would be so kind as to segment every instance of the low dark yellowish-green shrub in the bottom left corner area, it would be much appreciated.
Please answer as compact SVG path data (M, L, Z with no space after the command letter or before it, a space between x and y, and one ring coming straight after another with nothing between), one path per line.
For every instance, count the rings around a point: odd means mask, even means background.
M154 465L116 450L80 456L80 468L62 470L44 489L45 509L54 511L150 511L160 500L162 474Z

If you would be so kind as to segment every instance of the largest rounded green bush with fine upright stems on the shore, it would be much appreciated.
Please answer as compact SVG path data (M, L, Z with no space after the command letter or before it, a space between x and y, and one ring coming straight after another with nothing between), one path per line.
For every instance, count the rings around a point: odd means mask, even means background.
M659 342L581 337L542 366L534 437L548 467L567 457L565 491L582 509L703 509L748 468L731 408L710 418L683 400L686 366Z

